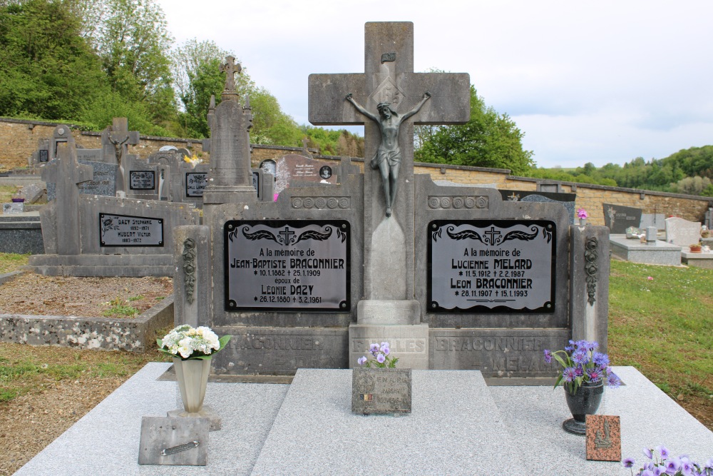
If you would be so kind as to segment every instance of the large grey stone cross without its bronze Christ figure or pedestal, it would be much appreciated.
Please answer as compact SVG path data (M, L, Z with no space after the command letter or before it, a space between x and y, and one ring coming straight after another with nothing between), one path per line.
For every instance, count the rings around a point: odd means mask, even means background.
M370 162L381 143L379 124L345 100L348 93L376 115L379 103L408 113L399 129L400 183L393 215L386 217L381 173ZM414 73L414 24L367 23L364 73L309 75L309 121L315 125L364 124L364 294L367 299L414 299L414 123L456 124L470 118L468 74Z

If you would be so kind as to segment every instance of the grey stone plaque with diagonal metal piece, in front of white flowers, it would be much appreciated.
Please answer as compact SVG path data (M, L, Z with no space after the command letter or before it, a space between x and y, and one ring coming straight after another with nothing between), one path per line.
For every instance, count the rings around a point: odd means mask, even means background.
M208 427L207 418L143 417L138 464L205 466Z

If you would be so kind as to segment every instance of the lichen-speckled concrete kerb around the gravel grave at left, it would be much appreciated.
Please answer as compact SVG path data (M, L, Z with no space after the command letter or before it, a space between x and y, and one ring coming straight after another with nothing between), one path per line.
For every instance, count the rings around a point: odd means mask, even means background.
M0 275L0 284L19 271ZM133 319L0 314L0 342L144 353L155 331L173 324L173 295Z

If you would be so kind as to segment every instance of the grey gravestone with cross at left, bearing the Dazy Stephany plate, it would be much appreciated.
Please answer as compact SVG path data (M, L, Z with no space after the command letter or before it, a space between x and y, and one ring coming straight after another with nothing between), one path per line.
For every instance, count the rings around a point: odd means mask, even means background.
M193 206L79 193L93 168L77 161L73 139L42 178L56 183L56 199L40 211L45 255L29 265L43 274L165 276L173 273L170 246L176 226L198 223Z

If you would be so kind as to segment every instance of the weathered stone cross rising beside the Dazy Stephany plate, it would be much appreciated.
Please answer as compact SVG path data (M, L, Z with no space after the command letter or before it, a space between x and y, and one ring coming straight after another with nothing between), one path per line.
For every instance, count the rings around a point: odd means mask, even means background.
M56 183L55 211L58 255L81 253L78 184L91 181L94 169L77 161L77 149L70 136L58 144L57 158L42 169L42 180Z

